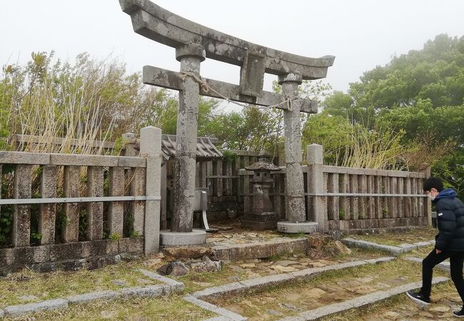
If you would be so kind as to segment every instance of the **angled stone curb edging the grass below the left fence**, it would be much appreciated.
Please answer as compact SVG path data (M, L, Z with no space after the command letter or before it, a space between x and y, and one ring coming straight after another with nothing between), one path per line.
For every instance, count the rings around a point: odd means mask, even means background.
M54 300L46 300L24 305L9 305L0 309L0 317L18 317L28 313L35 313L41 310L55 310L69 305L86 303L95 300L111 300L118 297L159 297L168 295L171 292L182 292L184 285L181 282L172 280L168 277L163 277L148 270L138 270L147 277L164 282L164 285L143 285L140 287L124 287L118 291L95 291L84 293L81 295L71 295L66 298L58 298Z

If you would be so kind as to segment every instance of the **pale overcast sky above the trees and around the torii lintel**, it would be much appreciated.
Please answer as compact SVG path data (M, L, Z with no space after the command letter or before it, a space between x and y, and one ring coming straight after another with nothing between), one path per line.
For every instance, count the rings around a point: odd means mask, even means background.
M336 56L326 81L346 91L364 71L421 49L438 34L464 34L463 0L158 0L212 29L302 56ZM24 63L32 51L73 61L83 51L112 53L128 71L143 65L178 71L175 51L133 32L117 0L0 0L0 64ZM239 68L207 59L202 76L238 83ZM271 89L276 76L267 75Z

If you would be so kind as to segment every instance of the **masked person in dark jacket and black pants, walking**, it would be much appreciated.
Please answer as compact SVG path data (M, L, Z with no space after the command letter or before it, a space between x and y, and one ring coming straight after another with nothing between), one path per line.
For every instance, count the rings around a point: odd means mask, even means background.
M415 302L430 304L433 267L449 258L451 279L464 302L464 204L456 197L455 190L443 189L441 178L428 178L423 189L436 207L438 235L435 236L435 248L422 261L422 287L418 292L410 290L406 294ZM464 305L453 315L464 317Z

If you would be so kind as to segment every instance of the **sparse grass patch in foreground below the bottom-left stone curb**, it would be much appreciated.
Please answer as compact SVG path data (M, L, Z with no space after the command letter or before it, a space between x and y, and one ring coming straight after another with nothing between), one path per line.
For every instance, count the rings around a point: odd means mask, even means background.
M214 317L213 312L203 310L182 300L178 295L169 297L137 297L126 300L96 301L74 305L64 310L40 312L21 320L204 320ZM4 319L9 320L9 319ZM19 320L19 319L14 319Z

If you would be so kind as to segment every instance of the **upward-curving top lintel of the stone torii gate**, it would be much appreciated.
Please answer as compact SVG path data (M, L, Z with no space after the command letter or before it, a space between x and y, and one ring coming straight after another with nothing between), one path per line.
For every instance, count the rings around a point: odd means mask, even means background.
M262 72L262 75L266 72L281 76L298 71L303 79L325 78L335 59L334 56L298 56L253 44L196 24L148 0L119 0L119 3L131 16L133 30L137 34L171 47L200 44L206 51L206 57L241 66L241 86L242 78L246 81L251 69L253 73ZM256 92L261 94L259 88L253 87L256 86L252 84L252 96Z

